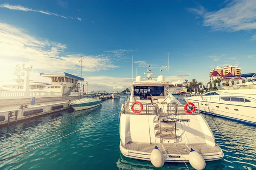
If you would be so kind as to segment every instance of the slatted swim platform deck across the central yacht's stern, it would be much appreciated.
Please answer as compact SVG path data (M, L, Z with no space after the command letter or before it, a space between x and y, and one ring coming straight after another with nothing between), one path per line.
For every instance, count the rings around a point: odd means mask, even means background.
M155 144L140 144L129 142L128 144L123 144L121 142L123 148L127 150L134 150L139 152L151 153L155 147ZM160 144L157 143L157 147L163 154L177 154L177 155L188 155L190 152L190 148L197 151L200 154L206 153L218 153L221 152L221 148L218 145L215 147L211 147L207 144Z

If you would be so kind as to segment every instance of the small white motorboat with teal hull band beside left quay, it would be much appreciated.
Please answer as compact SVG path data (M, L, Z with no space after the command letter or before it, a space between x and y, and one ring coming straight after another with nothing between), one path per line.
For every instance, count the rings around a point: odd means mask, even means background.
M75 111L89 109L102 104L102 99L97 94L85 94L82 99L75 100L70 103L70 106Z

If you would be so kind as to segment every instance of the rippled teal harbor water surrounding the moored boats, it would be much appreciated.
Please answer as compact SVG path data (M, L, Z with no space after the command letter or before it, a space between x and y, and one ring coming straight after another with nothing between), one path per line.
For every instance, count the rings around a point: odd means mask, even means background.
M67 111L0 128L0 159L64 136L120 111L121 99L104 101L93 110ZM1 170L150 170L150 161L129 159L119 151L118 115L99 122L37 150L0 162ZM256 169L255 163L238 153L218 132L211 116L204 115L225 157L207 162L206 170ZM256 159L256 127L214 117L225 137L247 156ZM230 125L228 125L230 124ZM237 127L231 126L236 125ZM250 129L250 130L247 130ZM252 131L255 130L255 131ZM187 163L189 165L189 163ZM183 163L165 163L165 170L186 170ZM192 167L189 165L189 169Z

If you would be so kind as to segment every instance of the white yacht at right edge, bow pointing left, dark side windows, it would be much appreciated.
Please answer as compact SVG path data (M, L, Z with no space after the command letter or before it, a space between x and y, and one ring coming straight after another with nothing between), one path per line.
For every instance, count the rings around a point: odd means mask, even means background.
M202 113L256 125L256 73L239 76L251 79L243 84L221 87L230 90L212 91L202 96L187 97L185 100L199 102Z

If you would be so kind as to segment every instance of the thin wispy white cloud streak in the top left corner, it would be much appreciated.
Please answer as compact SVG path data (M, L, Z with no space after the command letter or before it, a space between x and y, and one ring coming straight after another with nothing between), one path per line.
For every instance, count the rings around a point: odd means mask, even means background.
M8 8L8 9L11 9L11 10L18 10L18 11L40 12L42 14L55 15L57 17L62 17L62 18L67 19L67 17L64 17L63 15L55 14L55 13L52 13L52 12L49 12L49 11L35 10L35 9L32 9L32 8L27 8L27 7L20 6L20 5L9 5L8 3L0 4L0 8ZM70 17L70 18L72 18L72 17Z

